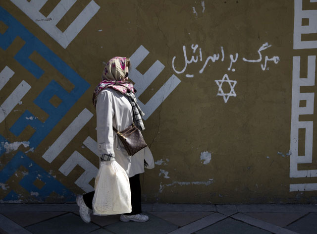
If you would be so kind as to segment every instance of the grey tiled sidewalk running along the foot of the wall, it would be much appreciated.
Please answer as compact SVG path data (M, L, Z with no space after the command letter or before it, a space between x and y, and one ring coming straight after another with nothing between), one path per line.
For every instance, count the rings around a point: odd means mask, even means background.
M1 234L317 234L317 205L143 204L145 223L95 216L76 204L0 204Z

